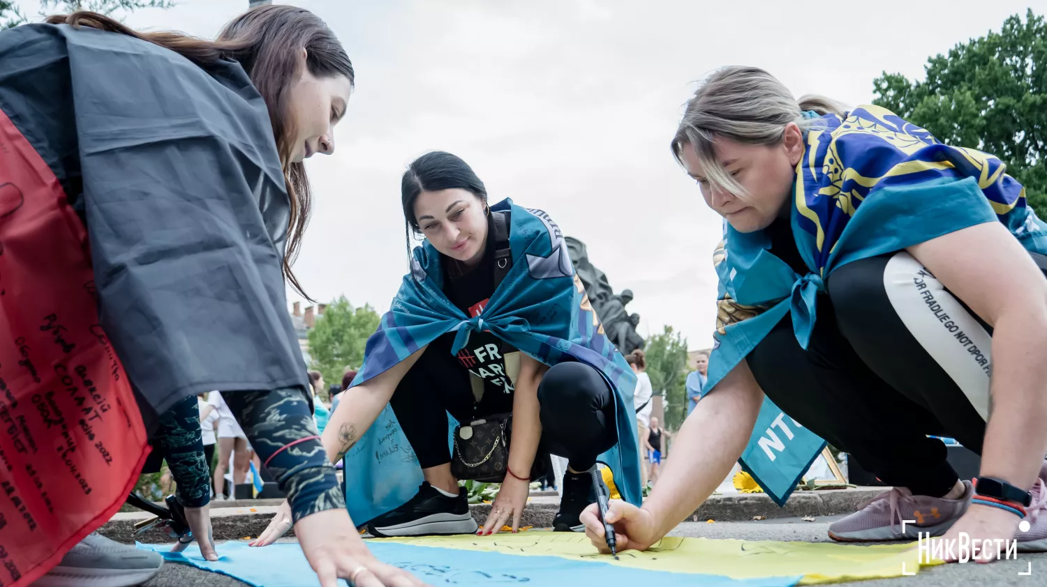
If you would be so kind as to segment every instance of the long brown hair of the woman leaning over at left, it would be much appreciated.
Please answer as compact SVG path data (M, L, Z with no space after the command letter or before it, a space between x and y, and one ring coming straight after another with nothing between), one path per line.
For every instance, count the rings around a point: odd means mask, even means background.
M305 165L290 160L296 131L288 113L288 100L303 48L310 73L317 77L344 75L351 85L355 84L353 63L327 24L305 8L284 5L259 6L240 15L225 25L215 41L178 32L138 32L107 16L86 10L49 17L46 22L120 32L171 49L201 66L220 60L235 60L243 66L268 107L290 200L284 277L309 299L291 271L309 222L311 194Z

